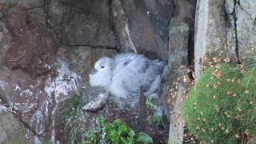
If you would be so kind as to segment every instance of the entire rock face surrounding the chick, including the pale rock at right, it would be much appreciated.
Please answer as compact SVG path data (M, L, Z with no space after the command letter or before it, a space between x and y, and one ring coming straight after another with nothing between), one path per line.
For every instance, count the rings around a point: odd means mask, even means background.
M169 67L157 100L164 126L138 126L145 105L122 109L112 97L85 120L123 118L156 143L168 133L169 143L182 143L183 76L190 76L183 69L192 65L197 79L201 56L213 58L215 48L233 62L252 58L255 25L254 0L0 0L0 143L64 143L58 115L66 98L82 90L90 102L94 62L120 52Z

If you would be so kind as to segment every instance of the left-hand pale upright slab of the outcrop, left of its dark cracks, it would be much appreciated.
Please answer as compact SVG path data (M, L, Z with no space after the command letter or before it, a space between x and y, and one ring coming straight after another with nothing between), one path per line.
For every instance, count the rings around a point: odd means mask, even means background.
M199 78L202 56L214 58L226 47L224 0L199 0L195 18L194 72ZM218 49L218 52L215 49ZM202 63L201 63L202 61Z

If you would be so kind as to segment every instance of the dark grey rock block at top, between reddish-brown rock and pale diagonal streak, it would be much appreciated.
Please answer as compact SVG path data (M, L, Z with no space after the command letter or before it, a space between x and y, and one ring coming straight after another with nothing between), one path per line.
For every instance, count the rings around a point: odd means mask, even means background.
M117 47L106 1L46 1L54 39L66 46Z

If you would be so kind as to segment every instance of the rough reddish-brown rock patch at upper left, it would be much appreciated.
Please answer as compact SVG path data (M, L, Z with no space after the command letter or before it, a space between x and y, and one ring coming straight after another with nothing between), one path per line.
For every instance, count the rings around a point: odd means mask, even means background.
M6 65L10 70L21 69L32 78L47 74L54 64L54 47L44 26L31 20L21 6L7 15L11 45L6 51Z

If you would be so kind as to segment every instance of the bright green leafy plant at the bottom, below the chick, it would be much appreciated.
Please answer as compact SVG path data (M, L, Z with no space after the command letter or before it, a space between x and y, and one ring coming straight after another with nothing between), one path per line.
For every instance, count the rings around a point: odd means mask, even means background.
M134 130L130 129L126 125L126 122L122 122L120 118L114 120L114 122L106 122L102 117L96 120L97 127L95 130L87 135L86 144L93 143L153 143L152 138L144 133L138 133L135 135Z

